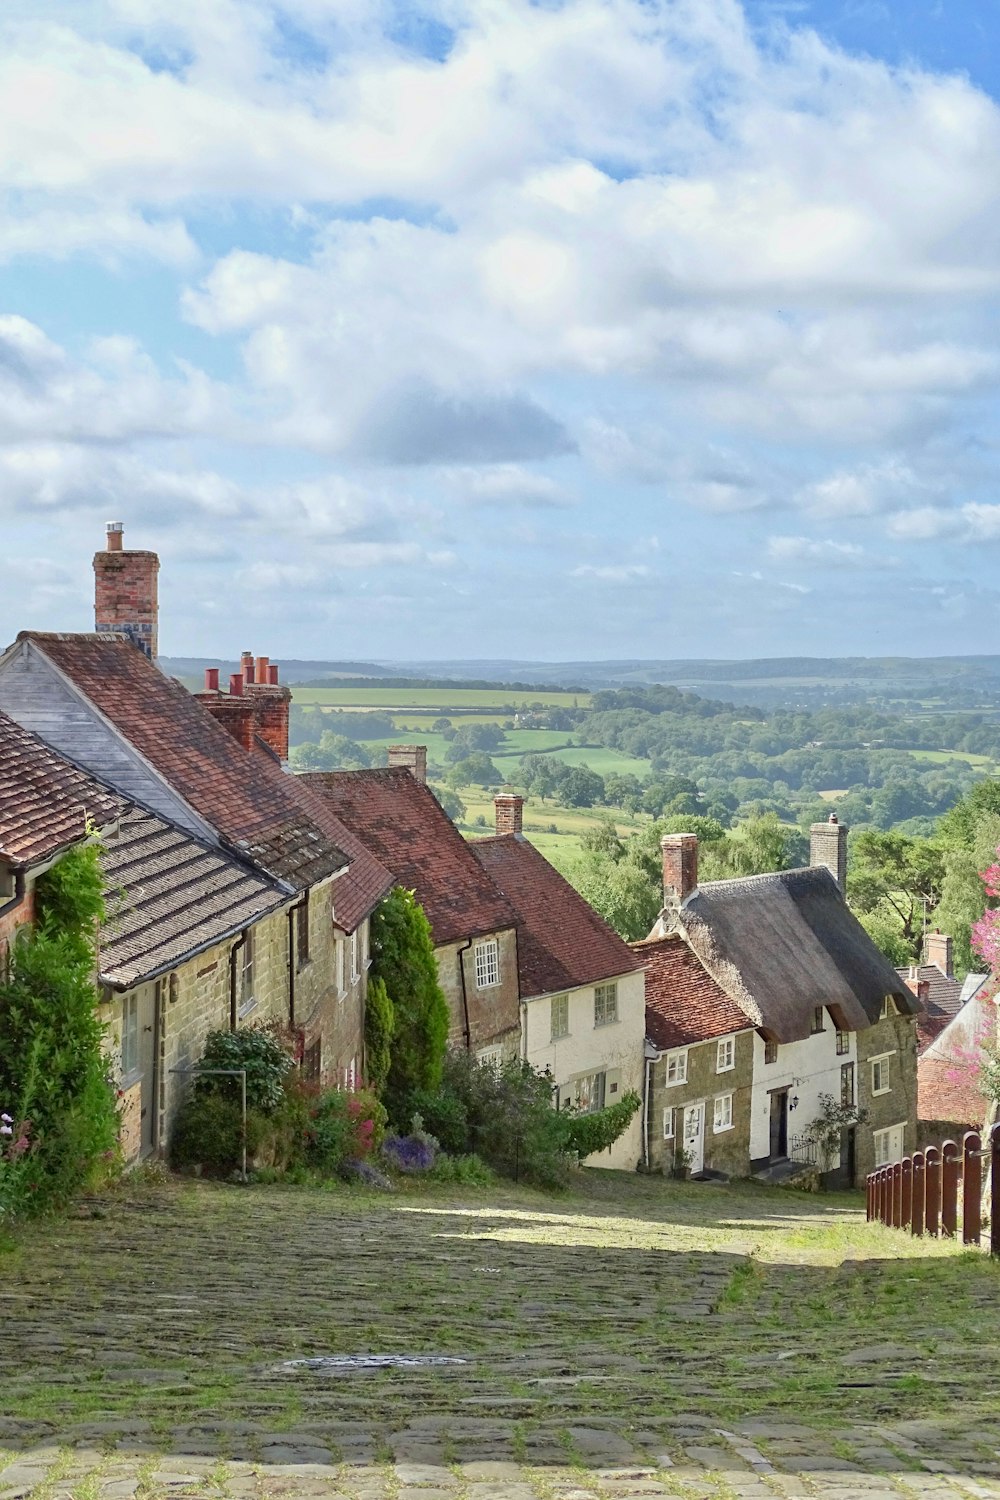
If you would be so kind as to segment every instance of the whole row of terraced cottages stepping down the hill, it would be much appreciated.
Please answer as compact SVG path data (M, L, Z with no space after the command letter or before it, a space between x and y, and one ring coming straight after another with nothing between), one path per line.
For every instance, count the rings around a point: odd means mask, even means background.
M919 1000L847 909L846 830L817 825L808 870L703 886L697 840L664 838L664 909L630 948L523 837L519 796L463 840L421 747L289 776L277 669L244 654L195 694L160 672L159 562L121 542L94 556L93 633L22 632L0 657L0 952L37 874L97 834L129 1156L165 1148L219 1028L277 1024L316 1082L360 1082L369 920L396 884L430 921L451 1046L549 1070L558 1107L642 1095L595 1164L796 1161L826 1094L867 1120L822 1166L859 1180L912 1149Z

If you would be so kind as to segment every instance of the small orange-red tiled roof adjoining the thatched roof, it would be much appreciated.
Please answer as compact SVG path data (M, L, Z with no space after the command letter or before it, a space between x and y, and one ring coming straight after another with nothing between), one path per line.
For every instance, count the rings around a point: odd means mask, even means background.
M634 942L631 950L646 966L646 1035L661 1052L753 1024L679 933Z

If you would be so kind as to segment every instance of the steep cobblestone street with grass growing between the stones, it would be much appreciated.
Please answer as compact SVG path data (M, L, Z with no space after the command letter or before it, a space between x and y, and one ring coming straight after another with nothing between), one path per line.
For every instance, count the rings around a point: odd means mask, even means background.
M0 1257L0 1497L1000 1497L999 1308L856 1198L135 1185Z

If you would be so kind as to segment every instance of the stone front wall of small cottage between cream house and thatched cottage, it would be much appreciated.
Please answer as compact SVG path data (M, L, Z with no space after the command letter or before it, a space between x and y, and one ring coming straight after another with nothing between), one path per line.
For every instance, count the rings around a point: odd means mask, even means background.
M649 1166L654 1172L670 1173L675 1166L682 1164L685 1110L702 1106L702 1166L709 1172L724 1172L732 1178L748 1176L754 1041L753 1030L742 1030L732 1036L712 1038L712 1041L693 1042L690 1047L663 1052L651 1064L648 1126ZM729 1062L730 1042L733 1065L724 1066L720 1072L720 1060ZM672 1068L672 1059L681 1053L687 1056L685 1068ZM684 1082L667 1082L669 1068L673 1076L684 1071ZM727 1096L732 1100L729 1107L732 1124L717 1128L715 1100ZM688 1120L694 1122L696 1116L688 1114Z

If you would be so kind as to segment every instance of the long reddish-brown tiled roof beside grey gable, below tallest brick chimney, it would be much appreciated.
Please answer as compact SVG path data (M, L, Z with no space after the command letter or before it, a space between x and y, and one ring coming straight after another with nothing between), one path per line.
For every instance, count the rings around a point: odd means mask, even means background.
M279 765L249 754L123 636L22 632L225 842L295 890L346 862Z

